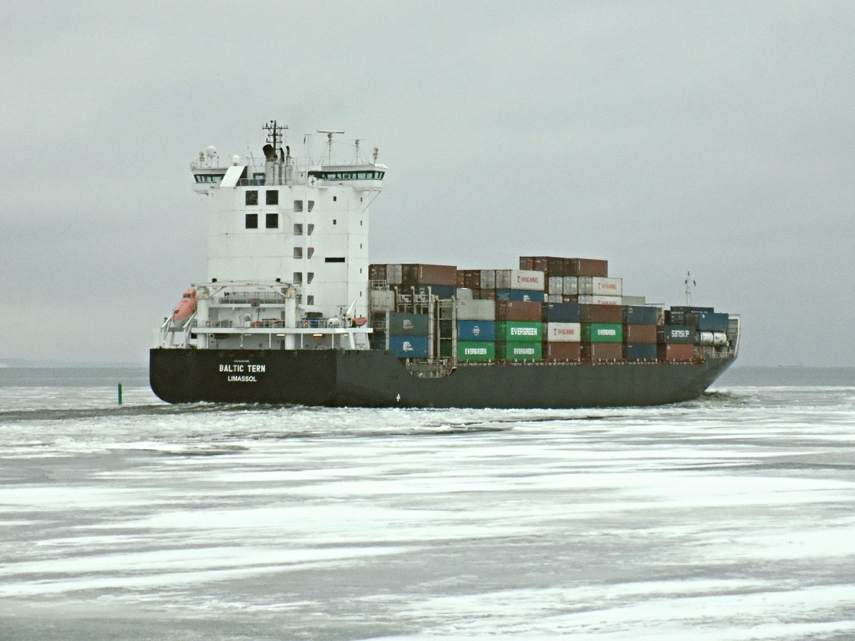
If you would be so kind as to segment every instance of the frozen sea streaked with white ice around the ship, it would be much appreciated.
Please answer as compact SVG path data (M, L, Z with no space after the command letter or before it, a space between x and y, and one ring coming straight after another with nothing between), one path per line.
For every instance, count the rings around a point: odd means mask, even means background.
M0 369L3 641L559 637L855 638L855 370L403 411Z

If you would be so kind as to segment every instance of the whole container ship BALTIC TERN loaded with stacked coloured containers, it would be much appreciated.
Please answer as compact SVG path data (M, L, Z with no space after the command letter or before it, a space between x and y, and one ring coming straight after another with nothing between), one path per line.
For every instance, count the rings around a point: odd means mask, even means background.
M369 262L386 166L292 156L191 163L208 205L208 279L150 350L168 403L589 408L687 401L734 362L740 318L629 296L608 262L520 256L508 268ZM304 140L309 140L307 135Z

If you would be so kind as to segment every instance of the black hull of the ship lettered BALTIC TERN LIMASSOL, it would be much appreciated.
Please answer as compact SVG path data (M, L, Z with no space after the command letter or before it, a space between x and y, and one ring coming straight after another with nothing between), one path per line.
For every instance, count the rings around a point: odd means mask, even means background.
M154 349L149 377L168 403L569 409L691 400L731 362L464 365L418 378L380 350Z

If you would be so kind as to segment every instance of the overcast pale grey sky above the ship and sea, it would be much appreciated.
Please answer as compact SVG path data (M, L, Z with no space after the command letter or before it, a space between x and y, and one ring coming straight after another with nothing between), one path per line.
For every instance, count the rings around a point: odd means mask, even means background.
M3 13L0 362L146 362L206 276L188 162L275 118L380 147L373 262L607 258L666 304L691 270L742 364L855 365L851 0Z

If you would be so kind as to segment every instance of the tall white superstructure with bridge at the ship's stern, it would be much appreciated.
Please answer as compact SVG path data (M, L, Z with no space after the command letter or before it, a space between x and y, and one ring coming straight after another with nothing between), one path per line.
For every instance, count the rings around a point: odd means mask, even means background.
M208 282L193 285L192 315L164 322L161 346L368 349L369 205L386 167L376 148L364 162L359 141L354 162L334 163L344 132L321 131L326 163L298 160L285 128L264 126L264 160L221 162L209 147L191 163L208 205Z

